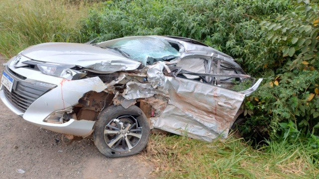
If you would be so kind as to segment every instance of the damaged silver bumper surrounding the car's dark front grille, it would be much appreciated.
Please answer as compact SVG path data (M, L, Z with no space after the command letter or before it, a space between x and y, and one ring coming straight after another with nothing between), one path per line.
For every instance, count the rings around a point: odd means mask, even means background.
M91 90L100 92L104 90L106 86L98 77L67 81L43 75L39 71L26 68L15 69L15 74L28 74L27 79L21 80L10 73L8 68L6 67L4 72L13 78L13 88L10 92L1 85L0 98L11 111L29 123L54 132L76 136L88 136L92 133L95 121L76 119L75 116L72 116L75 119L70 118L68 121L58 119L61 121L60 123L48 122L46 119L52 117L61 118L64 112L67 113L72 110L72 107L78 103L79 98L85 92ZM37 97L33 94L38 92L36 88L42 88L41 86L37 87L38 84L35 82L40 82L41 84L39 85L42 86L50 84L54 88L48 89L44 94L32 101L32 97ZM21 100L21 98L24 100ZM31 104L28 103L28 100L31 100Z

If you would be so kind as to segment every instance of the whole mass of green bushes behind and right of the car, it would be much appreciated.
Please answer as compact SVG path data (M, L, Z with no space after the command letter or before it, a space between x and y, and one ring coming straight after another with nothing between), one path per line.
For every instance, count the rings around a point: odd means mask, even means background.
M245 100L241 132L283 139L291 132L318 135L316 20L317 6L301 0L124 0L91 9L81 32L98 41L184 36L232 55L248 73L265 78Z

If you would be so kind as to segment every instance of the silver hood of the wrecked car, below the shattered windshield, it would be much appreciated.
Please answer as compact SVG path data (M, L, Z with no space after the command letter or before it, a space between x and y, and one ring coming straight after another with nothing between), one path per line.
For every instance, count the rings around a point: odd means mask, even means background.
M32 60L73 64L106 72L135 70L141 65L107 49L79 43L42 43L26 48L21 55Z

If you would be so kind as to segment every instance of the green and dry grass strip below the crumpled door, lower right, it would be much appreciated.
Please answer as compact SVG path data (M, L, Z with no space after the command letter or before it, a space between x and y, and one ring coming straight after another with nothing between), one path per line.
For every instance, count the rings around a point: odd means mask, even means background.
M255 150L233 134L212 143L153 134L147 159L157 166L153 174L165 179L319 178L318 150L302 143L267 143Z

